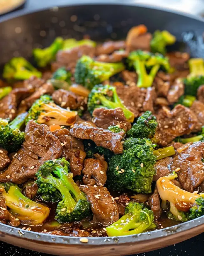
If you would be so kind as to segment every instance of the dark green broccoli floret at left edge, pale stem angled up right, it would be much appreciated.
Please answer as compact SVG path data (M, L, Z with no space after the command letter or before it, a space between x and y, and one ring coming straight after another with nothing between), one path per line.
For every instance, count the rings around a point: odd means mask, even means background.
M25 125L26 116L27 113L22 113L11 123L0 118L0 146L8 150L8 152L17 151L24 142L25 134L20 130Z

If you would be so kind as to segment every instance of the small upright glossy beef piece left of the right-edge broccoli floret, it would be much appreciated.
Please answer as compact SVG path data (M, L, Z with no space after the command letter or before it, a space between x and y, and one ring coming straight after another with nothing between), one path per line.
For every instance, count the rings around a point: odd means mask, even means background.
M167 94L167 100L170 104L178 102L179 98L184 94L184 83L181 79L176 79L171 85Z

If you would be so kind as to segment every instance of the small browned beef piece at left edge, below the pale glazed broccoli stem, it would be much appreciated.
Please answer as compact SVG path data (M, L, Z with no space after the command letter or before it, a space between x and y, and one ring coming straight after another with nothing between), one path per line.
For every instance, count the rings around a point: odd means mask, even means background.
M6 208L5 200L0 196L0 222L6 224L8 223L11 226L18 227L20 225L20 220L16 220Z

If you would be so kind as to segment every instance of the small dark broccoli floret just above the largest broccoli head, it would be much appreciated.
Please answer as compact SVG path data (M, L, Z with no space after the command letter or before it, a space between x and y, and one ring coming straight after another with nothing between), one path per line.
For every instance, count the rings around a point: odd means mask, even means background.
M133 124L132 128L127 132L127 136L151 139L154 137L157 125L157 118L152 115L151 111L146 111Z

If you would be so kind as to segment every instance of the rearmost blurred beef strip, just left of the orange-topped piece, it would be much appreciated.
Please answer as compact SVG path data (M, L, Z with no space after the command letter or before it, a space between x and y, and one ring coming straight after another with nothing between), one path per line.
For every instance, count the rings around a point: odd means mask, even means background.
M118 51L120 49L125 48L125 41L109 41L105 42L103 44L98 44L96 46L96 56L102 55L102 54L111 54L114 51Z

